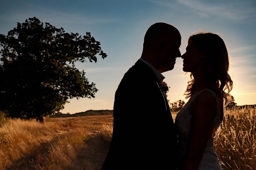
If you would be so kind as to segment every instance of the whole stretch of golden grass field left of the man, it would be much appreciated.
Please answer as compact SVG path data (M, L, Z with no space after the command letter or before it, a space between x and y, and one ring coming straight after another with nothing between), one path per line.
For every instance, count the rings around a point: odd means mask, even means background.
M0 169L100 169L113 116L7 119L0 127Z

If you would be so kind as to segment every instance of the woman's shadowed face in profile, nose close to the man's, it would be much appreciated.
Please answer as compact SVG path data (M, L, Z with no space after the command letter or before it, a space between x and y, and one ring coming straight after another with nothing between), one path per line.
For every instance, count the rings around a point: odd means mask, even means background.
M181 58L183 59L183 71L193 72L193 70L200 66L199 64L201 60L205 58L205 55L199 52L193 40L190 40L186 48L186 53L184 53Z

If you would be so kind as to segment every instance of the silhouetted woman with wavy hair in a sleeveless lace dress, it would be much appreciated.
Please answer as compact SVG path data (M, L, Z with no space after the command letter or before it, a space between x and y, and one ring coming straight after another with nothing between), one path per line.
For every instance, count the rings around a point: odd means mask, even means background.
M191 72L191 79L185 91L189 100L175 119L178 169L220 170L213 141L233 87L226 45L219 35L200 32L189 37L181 58L183 71Z

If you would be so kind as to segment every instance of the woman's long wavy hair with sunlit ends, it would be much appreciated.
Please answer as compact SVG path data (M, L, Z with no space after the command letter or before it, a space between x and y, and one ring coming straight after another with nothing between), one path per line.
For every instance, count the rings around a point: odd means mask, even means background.
M229 69L229 56L228 50L223 39L214 33L199 32L191 35L188 42L193 40L197 50L206 54L203 72L205 75L206 85L216 84L221 92L225 106L230 101L230 91L233 88L233 81L228 74ZM189 98L196 89L196 82L190 74L187 89L184 93L186 99Z

